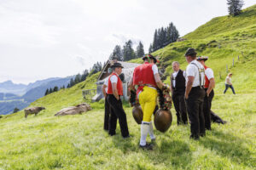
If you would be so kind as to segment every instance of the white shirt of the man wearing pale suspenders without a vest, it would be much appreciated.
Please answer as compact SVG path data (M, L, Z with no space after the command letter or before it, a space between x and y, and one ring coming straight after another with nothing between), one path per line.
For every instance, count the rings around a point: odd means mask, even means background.
M198 62L197 60L191 61L186 69L186 84L189 81L188 77L195 77L192 87L197 87L200 85L202 86L204 85L204 82L205 82L205 74L204 72L201 72L201 84L200 84L199 71L197 66L195 66L193 63L197 65L201 71L204 71L204 66L201 65L200 62Z

